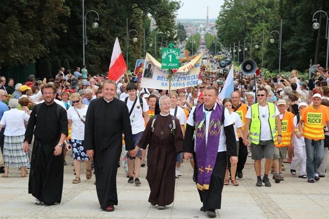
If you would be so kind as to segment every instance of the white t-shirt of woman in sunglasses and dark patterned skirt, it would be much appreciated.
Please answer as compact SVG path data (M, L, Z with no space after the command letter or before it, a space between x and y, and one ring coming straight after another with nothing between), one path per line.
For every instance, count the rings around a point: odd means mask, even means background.
M85 105L82 109L70 107L67 111L67 119L72 120L71 138L75 140L84 140L84 124L80 118L86 121L87 109L88 105Z

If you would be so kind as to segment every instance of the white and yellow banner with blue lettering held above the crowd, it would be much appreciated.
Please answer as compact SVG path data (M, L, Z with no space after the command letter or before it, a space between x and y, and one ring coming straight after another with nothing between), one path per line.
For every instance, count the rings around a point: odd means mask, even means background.
M171 89L179 89L197 86L201 60L200 53L191 62L180 67L175 74L171 75ZM141 79L141 87L169 90L169 70L161 69L161 63L156 61L152 55L146 54L144 72Z

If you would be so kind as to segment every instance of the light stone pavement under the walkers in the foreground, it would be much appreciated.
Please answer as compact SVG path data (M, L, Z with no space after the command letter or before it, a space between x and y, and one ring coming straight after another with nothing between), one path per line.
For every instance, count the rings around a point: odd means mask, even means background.
M45 206L33 203L34 197L28 194L28 177L20 177L16 167L9 168L9 177L0 177L0 218L207 218L199 211L199 201L195 184L192 181L192 168L189 162L181 166L176 179L175 201L166 210L157 210L148 202L149 186L145 180L147 167L141 168L141 185L128 184L123 169L118 169L117 189L119 204L114 212L100 209L95 176L85 178L85 165L82 164L79 184L72 184L74 167L72 158L67 154L64 170L64 189L62 203ZM329 218L329 176L315 184L290 174L285 164L284 181L272 187L256 187L253 162L248 157L243 178L235 187L224 186L222 209L217 210L220 218ZM328 165L327 165L328 168ZM298 173L298 170L297 170Z

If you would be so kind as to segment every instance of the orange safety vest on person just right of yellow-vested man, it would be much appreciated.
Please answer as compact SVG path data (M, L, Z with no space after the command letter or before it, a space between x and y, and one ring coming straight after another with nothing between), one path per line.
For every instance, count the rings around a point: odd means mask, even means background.
M282 142L280 145L278 145L278 138L274 141L274 145L277 148L280 147L287 147L290 145L290 140L291 140L291 132L293 131L294 127L294 113L285 111L284 115L281 120L281 126L282 126ZM277 130L277 136L278 136L278 129L276 126Z

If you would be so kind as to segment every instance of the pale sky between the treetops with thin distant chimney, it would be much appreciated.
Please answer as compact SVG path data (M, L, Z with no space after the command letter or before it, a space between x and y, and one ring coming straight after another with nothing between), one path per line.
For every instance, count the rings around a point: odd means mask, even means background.
M207 18L207 6L209 18L217 18L224 0L179 0L184 5L177 11L177 18Z

